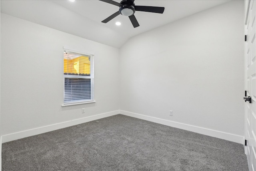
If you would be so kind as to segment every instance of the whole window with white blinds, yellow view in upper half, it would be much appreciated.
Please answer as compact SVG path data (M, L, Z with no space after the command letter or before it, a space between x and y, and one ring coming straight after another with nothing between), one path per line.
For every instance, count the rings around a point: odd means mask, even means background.
M93 55L64 50L64 105L93 101Z

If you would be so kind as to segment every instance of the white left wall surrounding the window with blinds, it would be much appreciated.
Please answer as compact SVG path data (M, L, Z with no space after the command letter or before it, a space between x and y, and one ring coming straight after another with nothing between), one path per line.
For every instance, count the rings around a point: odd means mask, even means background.
M1 135L119 109L117 48L3 13L1 24ZM63 46L94 52L96 103L61 106Z

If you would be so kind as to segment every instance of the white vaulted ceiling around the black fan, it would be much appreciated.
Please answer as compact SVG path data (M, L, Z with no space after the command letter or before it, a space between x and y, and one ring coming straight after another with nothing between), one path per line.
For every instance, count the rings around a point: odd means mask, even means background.
M121 0L116 0L120 2ZM140 26L126 16L101 21L118 6L99 0L1 0L1 12L88 40L120 48L129 38L230 0L135 0L135 5L165 7L163 14L135 12ZM121 22L121 26L115 23Z

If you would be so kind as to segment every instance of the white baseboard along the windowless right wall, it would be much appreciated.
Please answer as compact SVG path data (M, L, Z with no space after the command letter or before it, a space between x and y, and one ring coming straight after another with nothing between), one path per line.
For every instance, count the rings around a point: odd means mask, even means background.
M192 131L192 132L196 132L196 133L200 133L200 134L204 134L204 135L209 135L211 137L217 137L217 138L220 138L220 139L225 139L225 140L228 140L228 141L244 144L244 137L240 136L240 135L234 135L234 134L231 134L231 133L216 131L216 130L207 129L207 128L203 128L203 127L197 127L197 126L193 126L193 125L188 125L188 124L184 124L184 123L169 121L169 120L160 119L160 118L157 118L157 117L141 115L141 114L138 114L138 113L132 113L132 112L123 111L123 110L120 110L120 114L131 116L131 117L136 117L138 119L144 119L144 120L147 120L147 121L152 121L152 122L155 122L155 123L160 123L162 125L176 127L176 128L179 128L179 129L184 129L184 130L187 130L187 131Z

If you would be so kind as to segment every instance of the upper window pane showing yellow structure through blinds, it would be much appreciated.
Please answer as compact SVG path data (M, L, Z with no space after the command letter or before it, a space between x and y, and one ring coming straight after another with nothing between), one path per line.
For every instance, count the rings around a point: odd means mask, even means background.
M64 52L64 74L90 75L90 56Z

